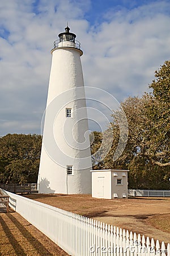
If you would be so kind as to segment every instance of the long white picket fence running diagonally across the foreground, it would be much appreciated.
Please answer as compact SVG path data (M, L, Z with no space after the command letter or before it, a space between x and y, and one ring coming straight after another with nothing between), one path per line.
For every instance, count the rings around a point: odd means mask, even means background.
M73 256L170 256L170 244L3 191L10 207Z

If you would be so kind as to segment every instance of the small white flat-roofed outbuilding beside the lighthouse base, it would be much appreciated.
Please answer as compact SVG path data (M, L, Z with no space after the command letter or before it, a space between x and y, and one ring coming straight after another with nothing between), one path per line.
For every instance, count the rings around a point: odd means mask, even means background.
M92 197L128 198L129 170L91 170Z

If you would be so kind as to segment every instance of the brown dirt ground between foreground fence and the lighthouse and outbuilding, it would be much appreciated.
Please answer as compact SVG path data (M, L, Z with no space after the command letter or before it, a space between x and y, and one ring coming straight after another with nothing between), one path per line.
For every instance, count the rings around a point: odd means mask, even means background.
M33 194L30 199L170 242L170 197L94 199L90 195Z

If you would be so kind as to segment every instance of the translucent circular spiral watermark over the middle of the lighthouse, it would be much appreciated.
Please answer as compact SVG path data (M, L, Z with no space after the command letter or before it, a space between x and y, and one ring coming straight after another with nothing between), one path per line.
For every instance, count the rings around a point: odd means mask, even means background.
M86 89L86 97L84 89ZM90 101L91 106L86 107L86 101ZM71 108L72 118L65 118L66 108ZM119 110L121 113L120 117L117 117L120 137L113 155L113 161L115 161L121 156L128 140L126 115L116 98L105 90L84 86L59 94L48 104L41 121L42 144L49 157L59 166L77 160L81 161L82 170L91 168L91 155L88 154L90 131L87 125L88 120L91 120L100 127L103 134L101 146L92 158L95 159L100 154L100 161L104 160L113 143L113 130L111 127L107 129L110 123L108 112L111 115L113 110ZM83 134L81 138L79 134ZM73 150L84 153L71 156L69 152Z

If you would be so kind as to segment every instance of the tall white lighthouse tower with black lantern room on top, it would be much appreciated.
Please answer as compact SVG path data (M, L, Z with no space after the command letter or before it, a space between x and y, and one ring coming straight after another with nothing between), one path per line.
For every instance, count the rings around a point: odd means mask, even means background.
M91 193L91 152L76 35L58 35L52 49L38 185L40 193Z

